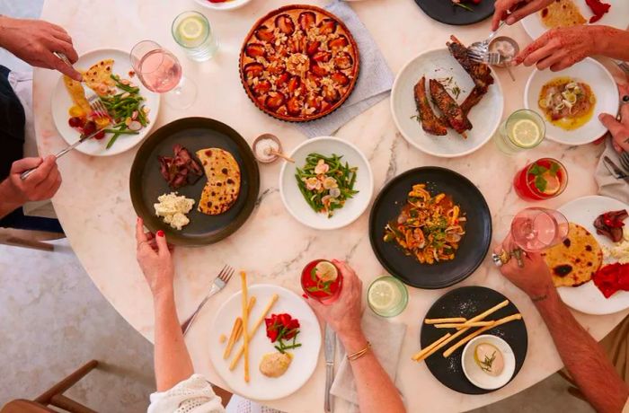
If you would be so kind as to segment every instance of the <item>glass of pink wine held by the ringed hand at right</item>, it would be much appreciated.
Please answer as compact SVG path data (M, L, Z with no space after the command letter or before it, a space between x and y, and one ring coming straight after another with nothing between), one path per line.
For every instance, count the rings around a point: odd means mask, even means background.
M511 239L522 250L537 252L554 247L568 235L565 216L554 209L523 209L511 222Z

